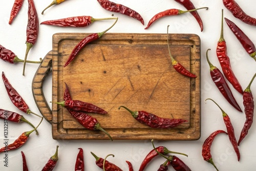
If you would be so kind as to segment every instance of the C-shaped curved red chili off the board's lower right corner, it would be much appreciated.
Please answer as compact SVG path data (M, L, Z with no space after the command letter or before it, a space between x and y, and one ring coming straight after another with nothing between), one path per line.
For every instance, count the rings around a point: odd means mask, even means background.
M216 165L214 164L214 161L212 160L212 157L211 157L211 154L210 154L210 147L211 147L211 144L212 142L214 141L215 137L220 134L220 133L225 133L227 134L225 131L223 130L217 130L213 133L211 133L209 135L209 137L207 137L203 143L203 147L202 147L202 156L203 156L203 159L205 161L207 161L208 163L212 164L216 170L218 170L218 168L216 167Z

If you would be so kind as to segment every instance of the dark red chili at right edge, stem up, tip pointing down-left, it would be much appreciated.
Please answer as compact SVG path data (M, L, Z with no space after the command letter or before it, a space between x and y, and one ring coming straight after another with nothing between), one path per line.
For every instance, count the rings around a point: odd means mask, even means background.
M253 101L253 96L252 96L250 87L251 87L251 83L254 80L255 76L256 76L256 74L254 74L254 76L252 77L250 83L248 84L247 88L244 90L244 94L243 94L243 104L244 104L244 113L246 116L246 121L245 121L244 127L241 131L238 145L240 145L242 140L248 134L248 131L253 122L254 101Z

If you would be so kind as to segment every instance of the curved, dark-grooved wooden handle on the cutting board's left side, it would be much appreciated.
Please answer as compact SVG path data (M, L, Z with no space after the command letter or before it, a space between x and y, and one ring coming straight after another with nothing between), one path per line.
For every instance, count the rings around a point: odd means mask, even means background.
M52 51L48 52L47 55L44 57L32 80L32 92L35 99L35 103L42 116L44 116L44 118L49 123L52 122L52 111L46 101L44 92L42 91L42 84L46 76L50 73L51 68Z

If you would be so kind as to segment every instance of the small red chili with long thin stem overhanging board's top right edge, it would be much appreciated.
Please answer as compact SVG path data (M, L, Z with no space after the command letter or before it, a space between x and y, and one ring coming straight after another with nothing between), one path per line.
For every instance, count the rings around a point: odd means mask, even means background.
M186 70L177 60L174 59L174 57L170 53L169 38L168 38L168 28L169 28L169 25L167 26L167 46L168 46L169 56L170 56L170 59L172 60L172 65L173 65L174 69L178 73L180 73L180 74L182 74L182 75L184 75L186 77L196 78L197 75L195 75L193 73L190 73L188 70Z

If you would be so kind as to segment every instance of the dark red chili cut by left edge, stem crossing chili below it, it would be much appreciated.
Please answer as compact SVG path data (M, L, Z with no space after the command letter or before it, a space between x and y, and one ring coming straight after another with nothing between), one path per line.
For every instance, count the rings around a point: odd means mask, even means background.
M23 115L19 115L18 113L15 113L15 112L0 109L0 118L8 121L16 122L16 123L26 122L29 125L31 125L33 128L35 128L35 126L32 123L30 123L27 119L25 119ZM35 132L36 132L36 135L38 135L37 130L35 130Z

